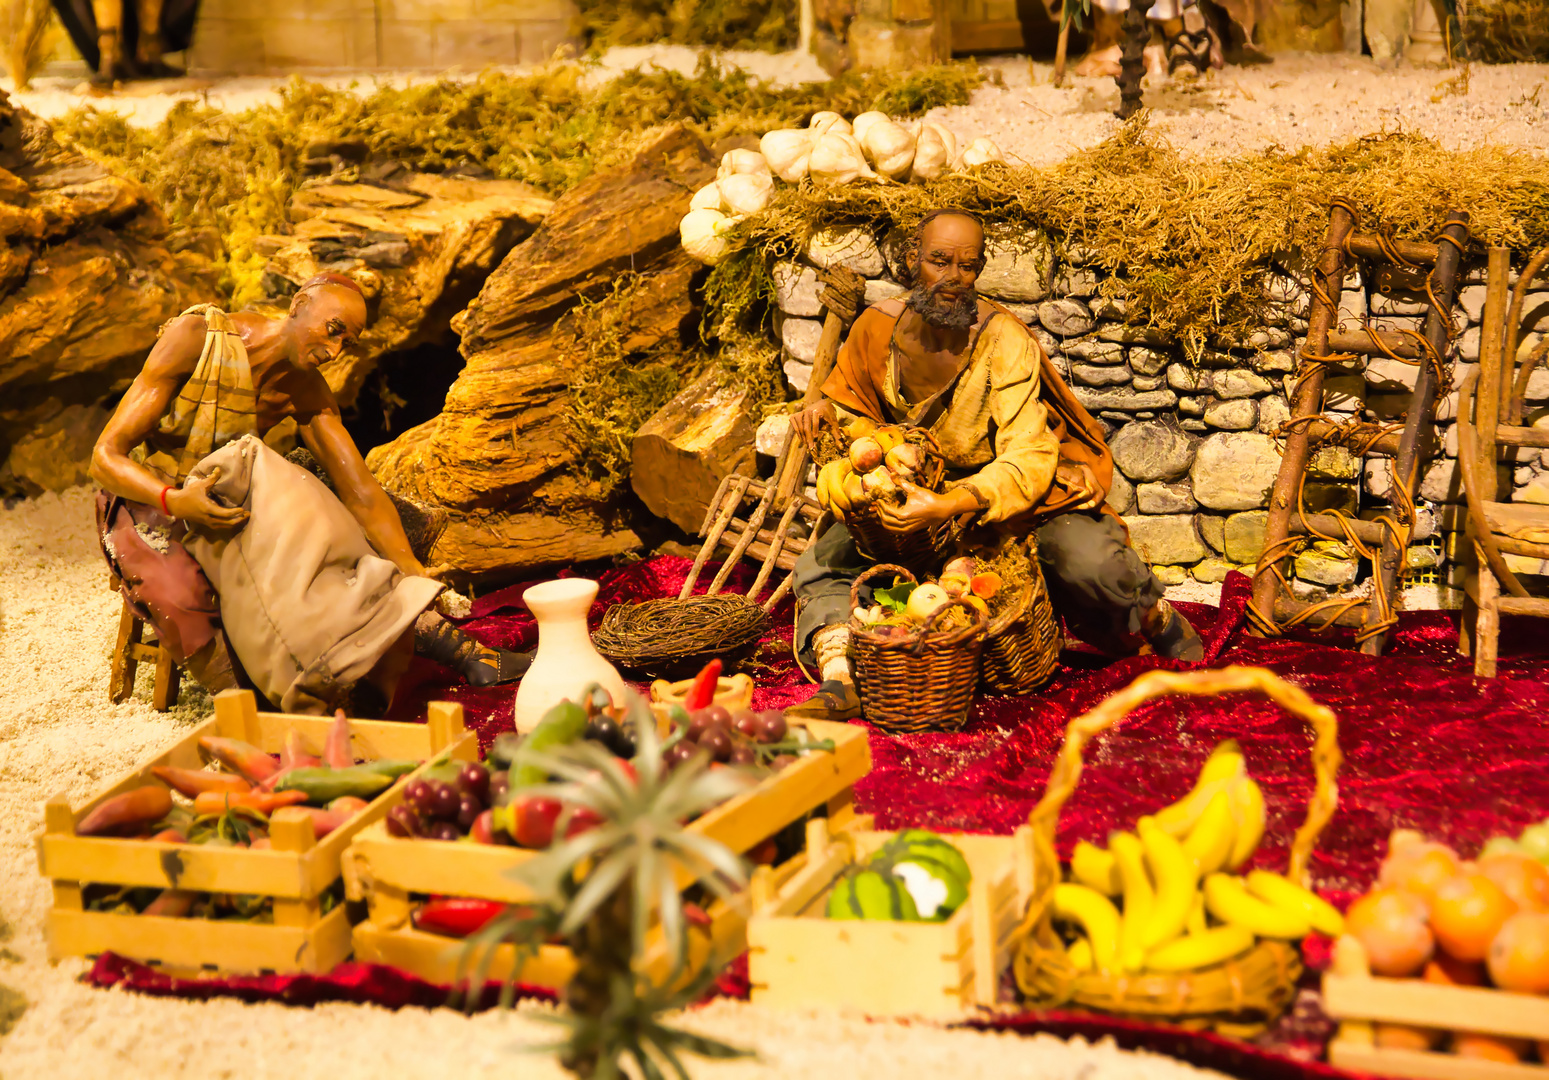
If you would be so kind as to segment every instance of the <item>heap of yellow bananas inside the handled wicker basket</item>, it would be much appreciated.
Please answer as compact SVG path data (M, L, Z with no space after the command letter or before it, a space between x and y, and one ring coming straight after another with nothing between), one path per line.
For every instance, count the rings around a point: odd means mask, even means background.
M1259 937L1338 936L1345 917L1279 874L1236 871L1264 837L1264 795L1235 739L1214 748L1194 790L1115 832L1104 851L1078 843L1072 882L1055 886L1058 922L1084 936L1069 947L1083 972L1190 972L1239 956ZM1114 899L1120 905L1115 906Z

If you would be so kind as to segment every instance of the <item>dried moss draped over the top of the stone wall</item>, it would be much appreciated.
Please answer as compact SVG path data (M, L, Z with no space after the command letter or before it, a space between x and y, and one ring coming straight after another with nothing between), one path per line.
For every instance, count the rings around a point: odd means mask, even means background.
M1549 242L1543 158L1504 147L1445 150L1419 135L1371 135L1295 153L1185 160L1146 129L1146 113L1052 167L990 164L926 186L782 186L742 242L776 256L813 231L855 223L912 229L936 206L981 214L991 236L1041 229L1084 248L1121 279L1131 319L1197 350L1210 335L1262 324L1264 274L1297 273L1321 242L1329 198L1355 201L1368 225L1430 239L1445 208L1467 209L1473 236L1516 249ZM1117 282L1115 282L1117 284Z

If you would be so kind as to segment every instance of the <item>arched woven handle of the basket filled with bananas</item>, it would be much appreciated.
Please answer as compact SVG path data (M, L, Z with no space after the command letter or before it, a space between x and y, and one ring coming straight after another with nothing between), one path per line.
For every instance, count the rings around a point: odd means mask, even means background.
M1293 686L1266 668L1233 665L1219 671L1149 671L1125 690L1098 702L1092 711L1070 721L1066 728L1066 741L1060 748L1053 770L1049 773L1044 796L1038 800L1038 806L1027 818L1033 827L1035 906L1041 906L1039 899L1046 897L1060 880L1055 824L1060 820L1060 810L1081 778L1081 750L1086 748L1086 744L1154 697L1168 694L1213 696L1242 690L1262 693L1292 716L1306 721L1315 734L1312 744L1315 786L1312 798L1307 800L1307 818L1297 829L1297 837L1290 843L1290 866L1286 872L1290 880L1306 883L1312 848L1317 844L1323 826L1334 817L1334 804L1338 800L1334 778L1338 775L1343 756L1340 755L1338 721L1334 710L1312 700L1300 686Z

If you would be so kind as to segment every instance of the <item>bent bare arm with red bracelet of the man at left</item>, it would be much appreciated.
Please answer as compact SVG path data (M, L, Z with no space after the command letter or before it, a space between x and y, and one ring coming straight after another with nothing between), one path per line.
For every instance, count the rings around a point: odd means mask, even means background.
M167 480L130 460L129 452L155 431L161 417L172 408L183 383L194 373L203 349L204 319L198 315L173 321L156 341L150 356L146 358L146 366L130 383L91 449L91 479L107 491L152 507L163 504L161 496ZM166 507L172 516L214 528L243 524L248 519L246 511L215 504L204 493L208 483L191 483L187 488L173 485L166 491Z

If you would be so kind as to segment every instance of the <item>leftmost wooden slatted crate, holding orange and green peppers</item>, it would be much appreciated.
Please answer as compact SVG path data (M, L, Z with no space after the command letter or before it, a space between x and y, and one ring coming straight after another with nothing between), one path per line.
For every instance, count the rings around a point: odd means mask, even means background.
M96 793L71 807L65 795L51 798L37 835L37 866L54 889L48 916L48 954L96 956L115 951L177 973L327 972L350 954L350 920L342 903L322 913L322 894L339 880L341 858L361 829L380 821L403 798L395 784L372 800L347 824L322 840L304 813L277 812L268 851L166 844L112 837L77 837L76 823L102 800L158 784L152 765L200 769L201 736L226 736L279 753L299 730L319 750L333 721L318 716L259 713L248 691L215 697L215 716ZM463 730L460 705L435 702L426 724L350 721L356 758L438 761L477 758L479 744ZM206 919L87 911L88 885L180 888L197 893L239 893L274 897L274 922L243 924Z

